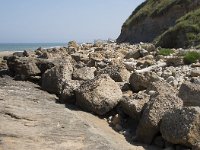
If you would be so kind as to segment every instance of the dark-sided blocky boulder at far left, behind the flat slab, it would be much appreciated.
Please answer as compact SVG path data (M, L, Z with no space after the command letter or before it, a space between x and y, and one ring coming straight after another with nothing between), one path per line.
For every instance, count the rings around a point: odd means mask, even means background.
M34 58L10 56L7 58L7 65L15 76L28 78L41 73Z

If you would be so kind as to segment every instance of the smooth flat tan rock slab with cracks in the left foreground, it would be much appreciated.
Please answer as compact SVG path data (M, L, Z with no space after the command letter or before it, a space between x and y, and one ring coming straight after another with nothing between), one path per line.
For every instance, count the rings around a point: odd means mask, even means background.
M33 83L0 78L0 95L0 150L151 149L131 145L105 120L55 103Z

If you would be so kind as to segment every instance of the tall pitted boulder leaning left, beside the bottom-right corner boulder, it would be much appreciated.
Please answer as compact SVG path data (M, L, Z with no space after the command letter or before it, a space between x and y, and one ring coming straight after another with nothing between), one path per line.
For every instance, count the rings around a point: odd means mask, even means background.
M159 125L162 117L166 113L176 108L182 108L183 106L182 100L173 93L173 90L170 91L170 89L166 88L166 92L162 91L163 93L151 96L144 108L136 131L137 139L141 142L150 144L155 135L159 133Z

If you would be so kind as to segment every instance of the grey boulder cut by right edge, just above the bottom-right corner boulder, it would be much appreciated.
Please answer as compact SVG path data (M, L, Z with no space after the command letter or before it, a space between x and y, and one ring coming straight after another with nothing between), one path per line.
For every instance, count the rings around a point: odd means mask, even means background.
M178 96L183 100L184 105L200 106L200 84L188 81L183 83Z

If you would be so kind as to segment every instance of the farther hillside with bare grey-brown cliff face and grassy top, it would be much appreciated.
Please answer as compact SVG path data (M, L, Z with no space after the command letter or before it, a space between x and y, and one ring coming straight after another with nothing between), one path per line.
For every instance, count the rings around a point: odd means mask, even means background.
M123 24L117 42L152 42L180 17L199 7L199 0L146 0Z

